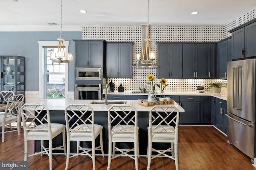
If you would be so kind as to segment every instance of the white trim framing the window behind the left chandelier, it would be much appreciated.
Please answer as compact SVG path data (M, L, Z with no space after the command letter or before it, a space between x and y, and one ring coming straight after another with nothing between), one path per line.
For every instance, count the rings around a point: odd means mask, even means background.
M59 41L37 41L39 45L39 99L45 99L46 97L44 96L44 57L42 56L43 54L43 46L58 46ZM66 54L68 54L68 45L69 41L64 41L64 46L66 49ZM68 66L69 64L67 63L65 66L65 98L68 98Z

